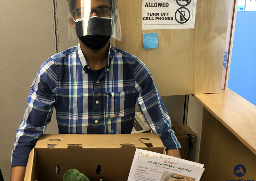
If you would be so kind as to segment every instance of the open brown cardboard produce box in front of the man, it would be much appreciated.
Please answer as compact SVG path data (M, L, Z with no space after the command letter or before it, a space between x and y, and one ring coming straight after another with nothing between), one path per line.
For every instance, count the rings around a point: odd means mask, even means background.
M24 181L63 181L69 169L80 171L91 181L99 181L100 176L125 181L136 148L166 154L155 133L43 134L30 152Z

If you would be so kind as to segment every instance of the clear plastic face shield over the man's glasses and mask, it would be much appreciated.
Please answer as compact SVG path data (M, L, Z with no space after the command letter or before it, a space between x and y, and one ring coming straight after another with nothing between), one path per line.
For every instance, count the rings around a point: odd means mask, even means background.
M70 41L86 35L122 39L116 0L68 0L68 6Z

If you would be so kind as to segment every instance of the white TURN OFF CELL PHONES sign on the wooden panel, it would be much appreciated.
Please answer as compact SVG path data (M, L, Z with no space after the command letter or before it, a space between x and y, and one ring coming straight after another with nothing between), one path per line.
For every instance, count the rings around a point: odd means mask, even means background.
M142 30L195 27L196 0L143 0Z

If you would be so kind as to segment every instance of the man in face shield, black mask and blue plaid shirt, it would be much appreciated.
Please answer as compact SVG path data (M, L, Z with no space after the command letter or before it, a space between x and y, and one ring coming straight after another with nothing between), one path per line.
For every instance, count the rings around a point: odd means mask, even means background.
M29 152L56 109L60 134L130 134L135 104L167 154L180 157L156 84L134 55L113 47L121 40L116 0L69 0L68 34L79 44L43 63L32 83L12 151L11 181L23 180Z

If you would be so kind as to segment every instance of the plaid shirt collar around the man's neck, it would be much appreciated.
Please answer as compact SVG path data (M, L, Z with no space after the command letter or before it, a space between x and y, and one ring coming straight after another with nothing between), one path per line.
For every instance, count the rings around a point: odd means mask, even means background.
M112 61L114 52L115 52L115 49L114 49L112 43L110 42L110 46L109 46L109 50L108 50L108 60L106 62L105 71L107 70L108 66L110 65L110 63ZM86 72L86 67L88 66L88 63L87 63L87 61L86 61L86 59L84 57L84 54L83 54L83 52L81 50L80 42L77 45L76 57L79 59L82 68Z

